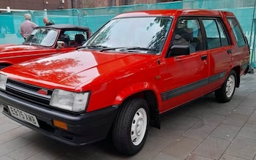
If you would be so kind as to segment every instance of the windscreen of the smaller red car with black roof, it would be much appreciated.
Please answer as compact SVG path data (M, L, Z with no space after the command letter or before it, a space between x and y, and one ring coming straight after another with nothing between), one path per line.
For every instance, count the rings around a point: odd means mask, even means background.
M58 31L52 28L37 28L23 42L24 45L42 45L50 47L56 41Z

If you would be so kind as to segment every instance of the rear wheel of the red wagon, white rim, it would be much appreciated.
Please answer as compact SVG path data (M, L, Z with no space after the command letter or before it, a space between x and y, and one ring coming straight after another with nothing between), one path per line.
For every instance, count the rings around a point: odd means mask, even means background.
M236 90L236 72L231 70L222 87L215 91L218 102L230 102Z

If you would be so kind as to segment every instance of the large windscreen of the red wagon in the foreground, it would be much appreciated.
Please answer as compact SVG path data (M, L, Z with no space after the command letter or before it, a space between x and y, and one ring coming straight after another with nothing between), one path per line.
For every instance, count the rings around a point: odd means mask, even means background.
M170 17L117 18L99 29L84 45L92 49L159 53L170 29Z

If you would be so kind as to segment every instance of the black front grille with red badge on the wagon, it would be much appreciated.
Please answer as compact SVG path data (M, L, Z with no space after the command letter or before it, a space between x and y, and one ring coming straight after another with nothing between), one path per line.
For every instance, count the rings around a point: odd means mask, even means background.
M38 93L38 91L42 89L47 91L47 95ZM26 101L36 104L41 104L47 107L50 104L50 96L53 94L52 90L39 88L34 85L28 85L26 83L20 83L18 81L10 79L7 80L6 91L7 94L10 94L12 96L16 96L20 99L24 99Z

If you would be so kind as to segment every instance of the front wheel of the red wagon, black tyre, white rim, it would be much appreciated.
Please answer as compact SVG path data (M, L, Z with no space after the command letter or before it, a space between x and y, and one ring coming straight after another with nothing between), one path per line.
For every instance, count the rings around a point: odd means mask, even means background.
M113 126L113 145L117 151L134 155L143 148L148 132L148 113L144 99L124 102Z

